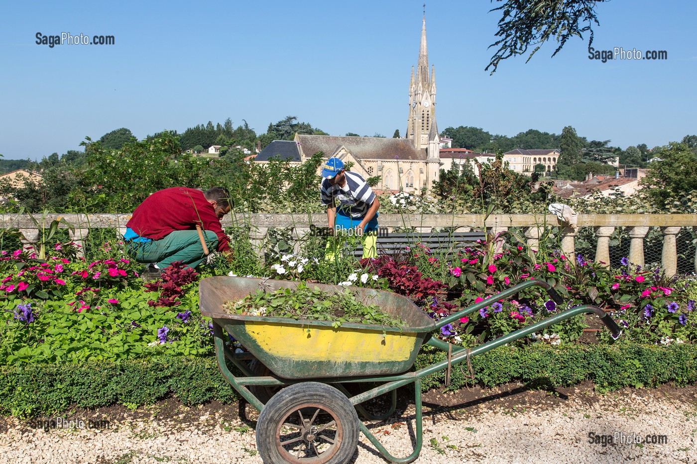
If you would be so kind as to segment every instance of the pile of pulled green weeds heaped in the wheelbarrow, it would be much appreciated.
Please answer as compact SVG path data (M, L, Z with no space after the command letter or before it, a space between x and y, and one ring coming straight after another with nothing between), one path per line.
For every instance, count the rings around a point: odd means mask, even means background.
M333 327L342 323L362 323L403 327L404 321L386 314L376 304L358 300L348 288L337 293L309 288L300 282L297 288L263 290L242 300L227 302L223 309L230 314L293 318L297 320L330 320Z

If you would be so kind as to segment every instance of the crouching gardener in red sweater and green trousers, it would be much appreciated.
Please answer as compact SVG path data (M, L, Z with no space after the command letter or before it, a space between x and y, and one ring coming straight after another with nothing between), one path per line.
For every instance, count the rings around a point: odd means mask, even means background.
M148 196L133 212L123 238L128 253L139 263L151 263L148 274L159 274L174 261L195 268L204 261L196 225L204 231L208 247L231 258L229 238L220 219L230 212L230 194L214 187L206 192L171 187Z

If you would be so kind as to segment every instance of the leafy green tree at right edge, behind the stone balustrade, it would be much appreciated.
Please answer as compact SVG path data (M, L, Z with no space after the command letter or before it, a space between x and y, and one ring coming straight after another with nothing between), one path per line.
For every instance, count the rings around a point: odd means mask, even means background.
M689 196L697 192L697 155L687 144L671 142L655 156L659 160L649 164L640 184L659 208L684 212L695 201Z

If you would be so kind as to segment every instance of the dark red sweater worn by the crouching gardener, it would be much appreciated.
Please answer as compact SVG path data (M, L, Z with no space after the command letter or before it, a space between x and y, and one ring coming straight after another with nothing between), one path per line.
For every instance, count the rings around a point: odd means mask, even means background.
M204 231L213 231L218 238L217 249L227 252L229 238L222 231L215 208L204 192L187 187L159 190L135 208L126 224L141 237L160 240L173 231L190 231L200 224Z

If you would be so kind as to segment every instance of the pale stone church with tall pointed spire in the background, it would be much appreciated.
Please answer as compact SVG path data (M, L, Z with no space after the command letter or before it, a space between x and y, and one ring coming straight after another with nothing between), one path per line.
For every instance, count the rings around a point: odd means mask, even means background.
M278 156L292 163L305 162L318 151L325 157L351 162L351 171L364 178L380 176L377 190L429 189L441 169L438 125L436 124L435 68L429 73L426 45L426 16L422 19L419 58L411 68L409 114L401 139L383 137L335 137L296 134L293 141L275 140L255 157L257 162ZM318 171L319 174L319 171Z

